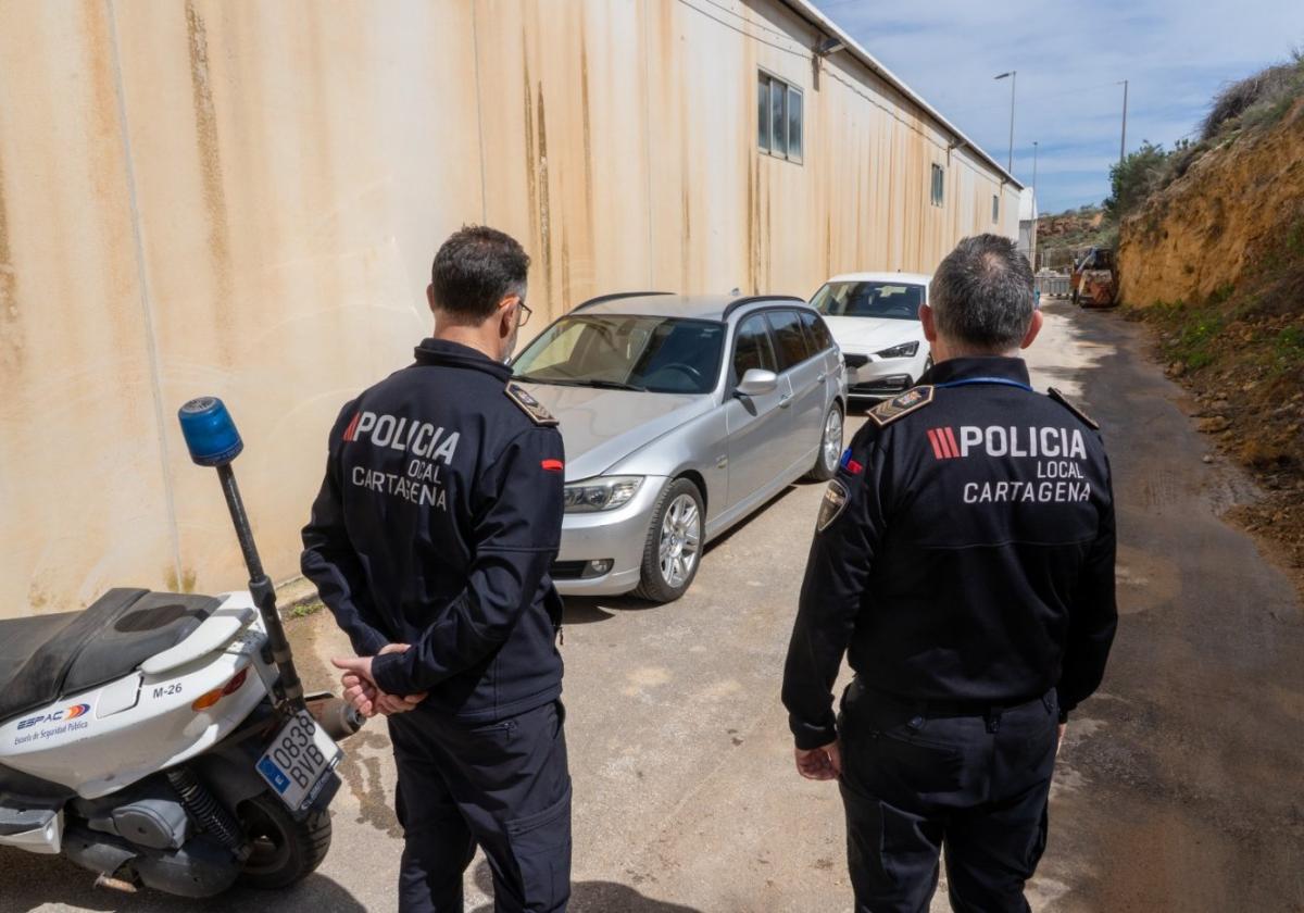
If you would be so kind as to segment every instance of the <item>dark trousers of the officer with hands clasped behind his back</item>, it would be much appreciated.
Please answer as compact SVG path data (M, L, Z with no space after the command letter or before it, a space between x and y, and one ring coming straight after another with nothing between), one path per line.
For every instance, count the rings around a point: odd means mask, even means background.
M415 710L389 719L403 826L399 910L462 913L484 848L497 913L562 913L570 900L570 771L561 700L467 725Z

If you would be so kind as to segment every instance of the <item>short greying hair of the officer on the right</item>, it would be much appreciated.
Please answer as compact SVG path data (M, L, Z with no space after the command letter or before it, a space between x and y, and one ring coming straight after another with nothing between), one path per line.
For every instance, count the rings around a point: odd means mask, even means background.
M1033 318L1033 267L1008 237L966 237L934 273L928 304L941 335L1005 352Z

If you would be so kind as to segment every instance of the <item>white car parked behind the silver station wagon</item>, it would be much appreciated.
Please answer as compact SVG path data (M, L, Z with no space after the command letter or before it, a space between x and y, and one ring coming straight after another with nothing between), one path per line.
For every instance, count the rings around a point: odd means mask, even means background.
M842 350L852 399L895 397L932 367L919 322L931 280L922 273L848 273L815 292L811 305Z

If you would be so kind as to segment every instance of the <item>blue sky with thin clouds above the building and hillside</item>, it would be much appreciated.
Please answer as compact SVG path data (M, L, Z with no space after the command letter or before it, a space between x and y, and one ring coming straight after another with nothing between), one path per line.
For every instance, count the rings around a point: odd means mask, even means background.
M1304 48L1304 0L814 0L952 124L1005 164L1042 213L1108 196L1127 149L1198 134L1219 87Z

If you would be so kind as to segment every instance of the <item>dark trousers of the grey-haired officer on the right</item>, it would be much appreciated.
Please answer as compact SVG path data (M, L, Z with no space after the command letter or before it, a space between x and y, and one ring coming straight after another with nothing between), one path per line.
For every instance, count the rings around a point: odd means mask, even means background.
M930 712L931 710L931 712ZM1055 693L974 715L853 682L842 696L842 802L857 913L917 913L945 846L951 906L1029 909L1024 883L1046 849L1058 747Z

